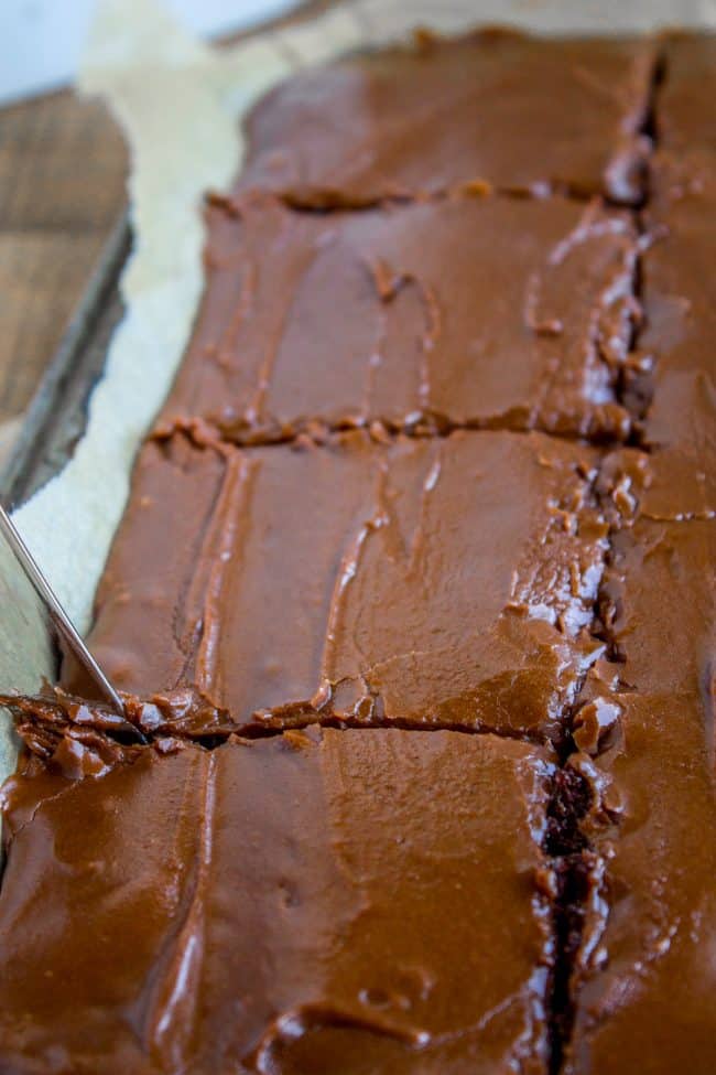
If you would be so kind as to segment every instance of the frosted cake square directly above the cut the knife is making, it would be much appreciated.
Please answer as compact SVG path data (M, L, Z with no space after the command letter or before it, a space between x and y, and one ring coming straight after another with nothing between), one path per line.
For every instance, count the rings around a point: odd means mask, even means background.
M321 713L558 734L604 651L596 464L507 432L150 442L89 643L118 687L191 688L237 728Z

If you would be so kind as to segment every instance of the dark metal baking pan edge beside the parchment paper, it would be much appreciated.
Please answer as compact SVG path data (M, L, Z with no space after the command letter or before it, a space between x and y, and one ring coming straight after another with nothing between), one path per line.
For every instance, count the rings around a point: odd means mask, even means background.
M111 334L124 312L119 278L131 245L129 214L124 212L105 245L0 472L0 498L6 507L19 507L57 474L85 431L89 397L105 367Z

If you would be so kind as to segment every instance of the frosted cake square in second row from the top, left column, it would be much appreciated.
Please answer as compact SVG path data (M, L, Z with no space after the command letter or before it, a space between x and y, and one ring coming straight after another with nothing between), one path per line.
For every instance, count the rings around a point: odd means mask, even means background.
M638 237L566 198L295 213L208 208L206 291L160 424L227 439L323 424L623 438Z

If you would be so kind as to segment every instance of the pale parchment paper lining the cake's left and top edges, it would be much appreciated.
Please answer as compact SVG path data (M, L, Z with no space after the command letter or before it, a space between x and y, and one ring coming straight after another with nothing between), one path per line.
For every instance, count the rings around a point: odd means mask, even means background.
M346 0L312 22L220 52L154 0L102 0L80 86L106 97L131 151L127 314L74 458L14 516L80 631L89 625L134 453L189 334L202 291L202 196L238 171L240 116L299 67L403 39L417 25L458 32L496 22L561 34L714 28L716 0ZM0 778L14 762L8 728L0 727Z

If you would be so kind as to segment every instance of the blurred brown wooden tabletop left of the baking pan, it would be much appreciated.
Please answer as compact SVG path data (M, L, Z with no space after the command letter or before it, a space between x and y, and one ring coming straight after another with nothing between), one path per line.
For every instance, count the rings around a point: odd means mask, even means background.
M127 153L69 90L0 110L0 454L124 204Z

